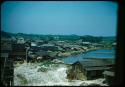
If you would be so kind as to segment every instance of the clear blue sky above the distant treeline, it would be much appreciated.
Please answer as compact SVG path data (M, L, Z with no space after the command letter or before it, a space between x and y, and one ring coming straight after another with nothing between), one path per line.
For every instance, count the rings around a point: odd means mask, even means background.
M6 1L1 29L11 33L115 36L118 4L110 1Z

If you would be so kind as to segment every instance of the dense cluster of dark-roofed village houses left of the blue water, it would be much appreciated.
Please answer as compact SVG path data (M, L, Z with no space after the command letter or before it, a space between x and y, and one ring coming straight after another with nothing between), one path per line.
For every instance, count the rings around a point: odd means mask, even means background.
M6 45L6 46L5 46ZM98 45L98 46L97 46ZM7 48L8 47L8 48ZM68 41L29 41L24 38L12 38L10 41L3 42L2 49L10 50L13 60L32 60L32 59L53 59L59 57L60 53L72 51L88 51L96 49L99 44L90 42L68 42Z

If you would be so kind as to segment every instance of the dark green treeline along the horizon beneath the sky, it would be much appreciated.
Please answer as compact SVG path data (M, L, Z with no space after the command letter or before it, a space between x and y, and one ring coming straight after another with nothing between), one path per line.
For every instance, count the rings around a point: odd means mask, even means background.
M40 34L25 34L25 33L8 33L1 31L1 36L10 38L10 37L23 37L25 39L30 40L46 40L46 41L53 41L53 40L62 40L62 41L77 41L82 40L83 42L92 42L92 43L99 43L102 41L105 42L114 42L116 40L116 37L101 37L101 36L90 36L90 35L84 35L84 36L78 36L78 35L40 35Z

